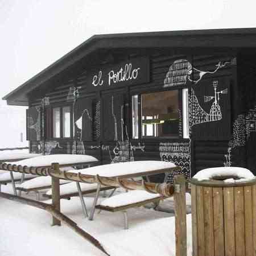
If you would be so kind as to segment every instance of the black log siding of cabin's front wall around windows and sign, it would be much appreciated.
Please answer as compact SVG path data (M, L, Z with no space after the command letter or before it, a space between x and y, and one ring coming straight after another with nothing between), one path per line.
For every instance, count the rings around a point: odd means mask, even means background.
M228 154L230 141L233 137L233 123L236 120L234 113L240 113L240 108L236 104L239 98L237 67L234 59L236 52L232 54L210 52L204 55L197 53L200 51L189 51L188 49L184 52L179 49L177 52L178 54L174 54L173 49L172 51L154 50L154 53L148 51L150 82L147 84L87 93L86 71L83 70L74 75L73 79L57 81L56 84L49 86L44 95L31 98L31 106L42 106L43 97L49 97L51 108L65 106L67 103L72 104L75 121L84 109L88 109L92 118L90 122L87 122L89 120L82 122L83 131L87 130L87 132L82 134L81 141L77 137L77 129L75 130L74 139L50 139L51 131L48 124L51 123L51 118L47 117L49 110L46 107L44 152L46 154L54 154L55 152L89 154L101 160L103 164L123 160L175 161L174 159L176 159L187 176L190 175L190 165L192 173L202 168L224 166L225 155ZM136 56L141 55L135 51L133 57ZM119 60L126 60L129 57L131 56L123 54L122 57L119 57ZM173 67L174 69L175 61L179 63L180 60L183 60L179 64L183 71L177 70L176 73L179 75L183 72L183 75L181 74L182 79L175 78L176 83L165 86L164 81L168 74L170 75L170 68ZM186 73L189 71L189 67L192 67L190 76ZM172 89L179 89L181 92L181 89L188 88L190 97L192 97L193 90L200 108L209 114L214 102L214 99L210 98L214 96L213 81L218 81L217 92L222 91L219 94L220 100L218 100L221 118L214 122L198 123L192 122L191 119L191 141L182 138L181 104L179 105L179 138L139 138L127 141L127 137L131 138L130 104L132 95ZM72 100L73 87L78 88L79 91L76 102ZM209 96L207 100L205 96ZM181 94L179 94L179 97L181 97ZM35 148L37 143L32 140L31 144ZM164 150L167 151L166 155L168 157L162 159L161 154ZM236 163L235 159L233 159L232 165L233 163Z

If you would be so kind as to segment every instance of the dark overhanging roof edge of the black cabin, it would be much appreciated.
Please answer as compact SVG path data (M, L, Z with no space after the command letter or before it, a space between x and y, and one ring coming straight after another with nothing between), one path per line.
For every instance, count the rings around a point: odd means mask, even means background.
M133 48L256 47L256 28L187 30L94 35L3 97L9 105L28 105L28 94L93 52Z

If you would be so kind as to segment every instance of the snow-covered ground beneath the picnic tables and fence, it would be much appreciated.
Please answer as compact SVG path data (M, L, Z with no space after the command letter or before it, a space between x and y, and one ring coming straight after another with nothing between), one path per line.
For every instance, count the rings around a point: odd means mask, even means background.
M2 191L10 193L11 185L2 186ZM35 199L32 192L24 196ZM86 197L88 210L92 201L92 196ZM164 202L163 207L171 209L172 201ZM129 229L125 230L122 213L102 211L96 212L94 221L85 219L77 197L61 200L61 211L100 241L112 256L175 255L172 213L143 207L129 209ZM44 210L0 198L0 218L1 256L105 255L67 226L52 227L51 216ZM188 255L191 255L191 215L187 218Z

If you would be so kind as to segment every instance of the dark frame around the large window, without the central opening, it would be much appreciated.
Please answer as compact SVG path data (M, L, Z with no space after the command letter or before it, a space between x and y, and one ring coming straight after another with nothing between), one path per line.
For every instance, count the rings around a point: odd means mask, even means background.
M133 92L130 97L132 102L132 98L135 95L138 95L138 138L133 137L133 123L131 122L131 139L134 141L168 141L170 139L172 140L188 140L189 138L184 138L184 127L183 127L183 89L188 90L188 96L189 96L189 86L179 86L175 88L168 88L168 89L160 89L160 88L155 88L155 89L149 89L149 90L143 90L141 92ZM168 137L154 137L154 136L142 136L142 101L141 101L141 96L142 94L147 94L147 93L157 93L157 92L168 92L171 90L177 90L178 91L178 104L179 104L179 110L180 110L180 115L179 117L179 127L181 126L181 131L179 129L178 135L177 136L168 136ZM188 98L189 101L189 98ZM187 102L187 105L189 105L189 102ZM130 117L132 121L132 112L133 112L133 106L131 104L131 110L130 110ZM188 113L188 125L189 125L189 113Z

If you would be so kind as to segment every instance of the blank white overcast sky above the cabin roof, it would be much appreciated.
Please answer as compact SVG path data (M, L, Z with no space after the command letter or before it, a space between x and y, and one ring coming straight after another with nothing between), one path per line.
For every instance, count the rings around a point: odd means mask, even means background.
M0 0L0 98L94 34L256 27L255 6L245 0Z

